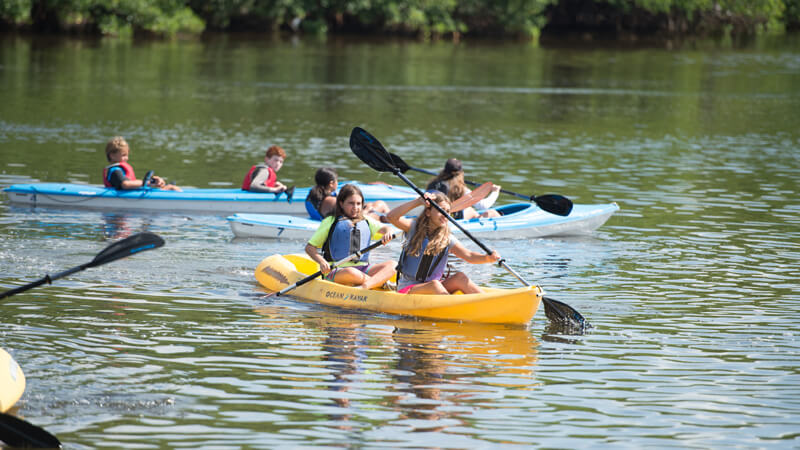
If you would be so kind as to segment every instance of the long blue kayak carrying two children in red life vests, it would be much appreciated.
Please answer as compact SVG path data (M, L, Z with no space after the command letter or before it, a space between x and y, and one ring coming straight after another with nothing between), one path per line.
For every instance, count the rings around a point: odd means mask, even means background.
M344 183L340 183L341 187ZM412 189L385 184L356 185L365 201L383 200L390 208L416 198ZM184 189L183 192L144 188L118 191L86 184L14 184L4 189L11 203L62 208L147 210L232 214L290 214L307 216L305 198L310 188L296 188L292 198L285 193L266 194L241 189Z

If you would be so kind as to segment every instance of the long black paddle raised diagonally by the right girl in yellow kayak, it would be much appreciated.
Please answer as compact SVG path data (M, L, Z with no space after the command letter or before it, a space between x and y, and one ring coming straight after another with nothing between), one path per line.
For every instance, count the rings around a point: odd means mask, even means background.
M381 145L381 143L376 139L374 136L369 134L367 131L355 127L353 131L350 133L350 149L355 153L358 158L366 163L368 166L372 167L373 169L377 170L378 172L392 172L400 179L402 179L407 185L409 185L414 191L417 192L421 197L424 198L423 192L414 185L405 175L403 175L402 171L396 165L396 155L391 155L386 149ZM478 244L480 248L483 249L487 254L491 254L492 251L483 244L478 238L473 236L469 231L465 230L464 227L461 226L452 216L447 214L436 202L430 202L431 206L436 208L440 214L447 216L450 222L453 223L462 233L464 233L467 237L472 239L473 242ZM511 267L509 267L505 260L501 259L498 264L505 268L509 273L514 275L519 281L522 282L525 286L530 286L530 283L525 281L517 272L514 271ZM544 309L545 315L548 319L553 322L557 322L560 324L571 324L575 327L585 328L589 327L589 322L574 308L567 305L564 302L560 302L558 300L553 300L549 297L542 297L542 301L544 302Z

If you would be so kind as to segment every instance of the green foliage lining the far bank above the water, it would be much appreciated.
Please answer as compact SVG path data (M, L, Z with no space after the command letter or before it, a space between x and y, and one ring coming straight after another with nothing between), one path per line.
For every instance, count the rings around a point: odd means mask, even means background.
M0 24L81 29L110 35L170 36L204 29L325 34L369 31L407 35L537 36L546 8L568 0L0 0ZM800 0L569 0L582 10L620 16L666 15L716 26L800 26ZM591 6L602 8L592 8ZM602 17L597 18L602 20Z

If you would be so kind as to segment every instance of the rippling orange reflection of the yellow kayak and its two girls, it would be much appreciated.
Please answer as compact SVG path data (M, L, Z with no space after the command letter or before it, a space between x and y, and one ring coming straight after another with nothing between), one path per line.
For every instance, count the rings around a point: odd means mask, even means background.
M255 311L264 326L289 312L273 305ZM463 425L464 407L488 386L529 389L536 384L539 343L526 328L430 322L321 308L304 311L303 324L323 336L324 385L335 406L328 415L351 429L378 402L406 431ZM370 406L372 405L372 406Z

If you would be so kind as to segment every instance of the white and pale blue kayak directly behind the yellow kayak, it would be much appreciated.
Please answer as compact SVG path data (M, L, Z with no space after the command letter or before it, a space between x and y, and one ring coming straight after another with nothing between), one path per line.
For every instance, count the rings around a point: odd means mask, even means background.
M616 203L574 205L566 217L550 214L533 203L512 203L494 209L503 215L458 223L470 233L488 239L582 235L603 225L619 206ZM233 234L243 238L308 239L319 226L316 220L280 214L239 213L227 219ZM457 227L452 229L460 233Z

